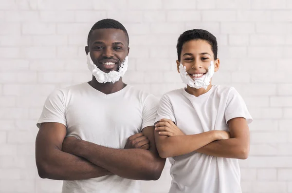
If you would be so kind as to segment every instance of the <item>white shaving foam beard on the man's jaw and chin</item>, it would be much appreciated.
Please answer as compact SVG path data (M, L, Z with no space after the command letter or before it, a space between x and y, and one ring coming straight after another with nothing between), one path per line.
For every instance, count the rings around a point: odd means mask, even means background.
M90 57L90 53L87 55L87 66L91 71L91 74L96 78L99 83L111 82L115 83L123 77L128 69L128 56L123 60L122 64L119 67L119 71L110 71L109 73L105 73L101 71L97 65L95 65Z

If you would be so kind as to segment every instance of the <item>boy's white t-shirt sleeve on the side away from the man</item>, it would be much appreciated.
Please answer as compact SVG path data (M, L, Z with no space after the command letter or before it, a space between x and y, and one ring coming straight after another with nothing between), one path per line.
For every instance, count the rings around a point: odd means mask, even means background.
M250 124L253 121L253 118L249 114L243 98L239 95L237 90L232 87L229 92L225 108L226 123L230 119L237 117L245 118L248 124Z

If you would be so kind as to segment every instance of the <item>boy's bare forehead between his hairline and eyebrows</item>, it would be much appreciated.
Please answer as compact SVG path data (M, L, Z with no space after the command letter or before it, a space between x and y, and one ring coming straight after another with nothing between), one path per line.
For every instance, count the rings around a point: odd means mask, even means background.
M183 43L182 54L192 53L199 54L207 52L209 54L214 54L210 43L203 39L193 39Z

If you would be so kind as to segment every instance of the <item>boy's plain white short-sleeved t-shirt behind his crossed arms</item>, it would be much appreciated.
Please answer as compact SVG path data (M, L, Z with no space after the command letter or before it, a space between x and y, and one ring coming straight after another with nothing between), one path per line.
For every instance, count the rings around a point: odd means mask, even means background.
M244 117L252 122L246 105L233 87L212 86L195 97L184 89L164 94L156 121L171 119L184 134L211 130L229 131L227 121ZM169 193L241 193L237 159L192 152L170 157L172 176Z

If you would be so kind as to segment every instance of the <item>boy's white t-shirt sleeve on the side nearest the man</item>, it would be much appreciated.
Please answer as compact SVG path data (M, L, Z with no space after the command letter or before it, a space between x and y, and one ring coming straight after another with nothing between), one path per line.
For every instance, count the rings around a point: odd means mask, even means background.
M167 95L161 97L158 105L157 117L155 123L162 118L167 118L176 123L173 107Z

